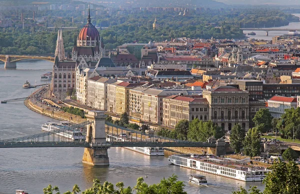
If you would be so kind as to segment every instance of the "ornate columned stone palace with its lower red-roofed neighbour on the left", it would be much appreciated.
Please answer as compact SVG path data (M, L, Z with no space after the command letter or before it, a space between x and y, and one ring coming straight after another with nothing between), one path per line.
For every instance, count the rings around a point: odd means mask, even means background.
M235 123L248 130L256 111L264 101L249 99L249 91L232 86L218 86L202 91L202 96L172 95L163 99L163 125L175 126L181 119L212 120L231 130Z

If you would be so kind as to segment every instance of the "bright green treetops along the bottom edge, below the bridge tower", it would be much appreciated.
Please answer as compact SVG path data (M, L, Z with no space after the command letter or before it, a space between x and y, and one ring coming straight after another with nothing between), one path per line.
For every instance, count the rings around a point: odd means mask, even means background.
M118 182L115 186L111 182L105 181L103 184L98 179L93 180L93 185L90 188L82 191L82 194L187 194L184 189L183 181L178 181L176 175L172 175L167 179L163 178L157 184L148 185L142 177L137 178L136 185L124 187L123 182ZM64 192L63 194L77 194L80 188L77 184L74 185L72 191ZM43 189L44 194L60 194L57 186L48 185Z

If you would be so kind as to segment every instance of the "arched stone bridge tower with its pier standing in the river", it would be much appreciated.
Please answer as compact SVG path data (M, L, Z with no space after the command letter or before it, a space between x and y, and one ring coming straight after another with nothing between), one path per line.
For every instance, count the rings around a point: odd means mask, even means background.
M87 125L86 142L101 144L106 142L104 111L91 110L85 115L93 123ZM109 165L107 147L85 147L82 162L91 165Z

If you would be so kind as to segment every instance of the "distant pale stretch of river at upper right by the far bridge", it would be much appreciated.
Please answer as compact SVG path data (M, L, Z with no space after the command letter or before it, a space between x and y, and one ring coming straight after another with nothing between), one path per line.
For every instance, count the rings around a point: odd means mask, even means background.
M293 13L293 15L300 17L300 13ZM300 29L300 22L290 22L288 25L279 26L279 27L270 27L270 28ZM251 32L251 30L250 31L244 30L243 32L247 34L247 33ZM256 35L246 35L246 36L248 36L250 38L255 38L255 39L272 40L273 36L287 34L288 30L286 30L286 31L269 31L268 36L265 35L265 31L254 30L254 32L256 33ZM299 31L299 33L300 33L300 31Z

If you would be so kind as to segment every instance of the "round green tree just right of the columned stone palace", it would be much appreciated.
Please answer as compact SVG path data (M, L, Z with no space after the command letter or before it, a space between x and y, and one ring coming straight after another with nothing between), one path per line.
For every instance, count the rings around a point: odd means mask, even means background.
M267 108L261 108L255 113L252 121L260 132L266 132L272 128L272 119L273 117L269 110Z

